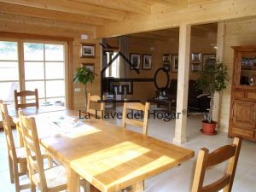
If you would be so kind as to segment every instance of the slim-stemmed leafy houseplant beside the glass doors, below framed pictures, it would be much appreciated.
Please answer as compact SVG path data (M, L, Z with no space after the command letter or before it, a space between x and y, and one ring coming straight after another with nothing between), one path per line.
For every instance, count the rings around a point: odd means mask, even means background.
M84 84L84 112L86 112L87 105L87 84L93 83L96 73L92 72L86 67L79 67L73 77L73 82Z

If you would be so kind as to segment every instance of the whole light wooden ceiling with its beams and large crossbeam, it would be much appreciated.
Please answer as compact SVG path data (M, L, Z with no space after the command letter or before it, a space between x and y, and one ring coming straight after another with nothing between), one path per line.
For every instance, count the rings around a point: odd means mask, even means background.
M255 9L255 0L0 0L0 22L63 26L78 32L91 26L96 38L107 38L182 23L193 26L251 17ZM203 34L209 27L195 30Z

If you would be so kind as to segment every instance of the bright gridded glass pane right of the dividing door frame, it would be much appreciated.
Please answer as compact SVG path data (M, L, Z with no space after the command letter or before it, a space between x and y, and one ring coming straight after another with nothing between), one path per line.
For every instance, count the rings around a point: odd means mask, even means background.
M46 105L50 102L64 102L64 45L35 43L23 45L26 90L38 88L39 100Z

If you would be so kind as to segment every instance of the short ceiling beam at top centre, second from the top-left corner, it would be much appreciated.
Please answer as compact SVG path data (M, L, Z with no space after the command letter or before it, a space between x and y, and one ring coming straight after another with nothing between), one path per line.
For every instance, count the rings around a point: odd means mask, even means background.
M138 14L150 14L151 6L145 3L140 3L136 0L127 1L127 0L70 0L72 2L80 2L86 4L92 4L99 7L104 7L108 9L117 9L122 11L128 11Z

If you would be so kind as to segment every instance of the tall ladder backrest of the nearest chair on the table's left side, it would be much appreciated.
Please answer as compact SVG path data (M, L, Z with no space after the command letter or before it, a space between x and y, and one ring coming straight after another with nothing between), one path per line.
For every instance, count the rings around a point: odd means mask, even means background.
M47 183L44 174L44 161L38 140L38 131L35 119L26 117L24 113L19 111L20 126L22 128L22 137L26 148L26 161L28 164L29 177L38 172L41 191L47 190ZM32 181L31 181L32 182Z

